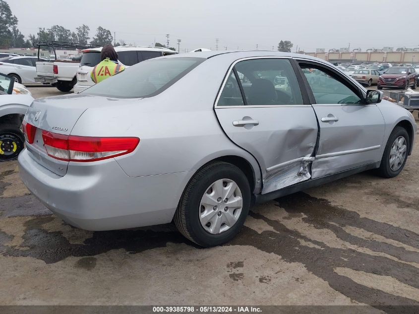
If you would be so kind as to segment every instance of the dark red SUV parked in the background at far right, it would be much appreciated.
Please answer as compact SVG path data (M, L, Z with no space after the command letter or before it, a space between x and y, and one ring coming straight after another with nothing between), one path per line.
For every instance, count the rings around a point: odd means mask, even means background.
M377 88L398 87L400 89L416 89L416 71L413 67L393 66L378 77Z

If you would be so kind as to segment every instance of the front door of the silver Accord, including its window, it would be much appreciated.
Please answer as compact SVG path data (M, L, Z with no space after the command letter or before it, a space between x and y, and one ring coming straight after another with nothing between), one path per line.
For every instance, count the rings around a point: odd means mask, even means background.
M318 63L299 64L303 73L324 74L323 81L311 80L306 74L320 125L312 178L381 160L384 118L377 105L364 104L358 86L334 69Z

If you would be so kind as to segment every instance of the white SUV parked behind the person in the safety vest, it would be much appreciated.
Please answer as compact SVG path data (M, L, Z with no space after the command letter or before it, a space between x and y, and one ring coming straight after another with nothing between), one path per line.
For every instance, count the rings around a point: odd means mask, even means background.
M95 84L90 78L90 72L96 64L101 62L101 50L102 48L83 50L80 68L77 71L77 83L74 85L74 93L81 92ZM115 51L118 53L118 62L125 67L144 60L176 54L176 51L162 47L118 46L115 47Z

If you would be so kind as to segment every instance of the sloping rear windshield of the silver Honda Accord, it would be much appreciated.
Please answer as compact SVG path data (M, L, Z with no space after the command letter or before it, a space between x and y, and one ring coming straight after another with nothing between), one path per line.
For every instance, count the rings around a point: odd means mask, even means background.
M115 98L152 97L203 61L204 58L150 59L126 68L82 93Z

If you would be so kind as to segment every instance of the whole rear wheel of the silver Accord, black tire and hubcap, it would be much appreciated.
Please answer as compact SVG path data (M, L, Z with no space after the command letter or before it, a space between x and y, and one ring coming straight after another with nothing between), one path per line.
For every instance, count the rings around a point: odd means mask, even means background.
M202 247L224 244L243 226L250 205L246 176L235 165L214 162L192 177L180 198L175 224Z

